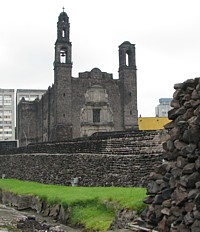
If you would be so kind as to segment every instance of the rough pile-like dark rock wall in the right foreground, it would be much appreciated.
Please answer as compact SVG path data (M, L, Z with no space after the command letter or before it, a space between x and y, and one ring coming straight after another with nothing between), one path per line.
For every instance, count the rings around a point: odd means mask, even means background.
M145 220L159 231L200 231L200 78L175 84L164 164L150 175Z

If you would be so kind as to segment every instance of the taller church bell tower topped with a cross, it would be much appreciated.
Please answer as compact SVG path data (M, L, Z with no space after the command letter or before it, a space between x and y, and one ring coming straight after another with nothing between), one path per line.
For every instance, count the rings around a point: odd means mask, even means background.
M51 140L61 141L72 138L72 45L69 39L69 17L64 11L57 22L57 40L54 61L54 126Z

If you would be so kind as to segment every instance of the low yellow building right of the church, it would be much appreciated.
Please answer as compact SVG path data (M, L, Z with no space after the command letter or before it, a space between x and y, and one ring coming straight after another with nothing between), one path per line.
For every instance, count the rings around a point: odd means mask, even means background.
M139 130L161 130L170 121L167 117L139 117L138 126Z

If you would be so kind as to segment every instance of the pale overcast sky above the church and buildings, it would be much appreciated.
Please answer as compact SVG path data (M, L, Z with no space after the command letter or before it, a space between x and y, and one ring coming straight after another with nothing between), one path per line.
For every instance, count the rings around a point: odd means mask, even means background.
M62 7L73 76L98 67L118 78L118 46L136 46L138 114L155 116L175 83L200 77L200 0L0 1L0 88L47 89Z

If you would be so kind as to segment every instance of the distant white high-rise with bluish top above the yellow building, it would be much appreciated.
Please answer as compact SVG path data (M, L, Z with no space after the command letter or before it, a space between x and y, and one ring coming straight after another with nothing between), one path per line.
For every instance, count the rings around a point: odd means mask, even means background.
M155 108L156 117L168 117L168 111L172 108L170 103L172 98L160 98L159 105Z

